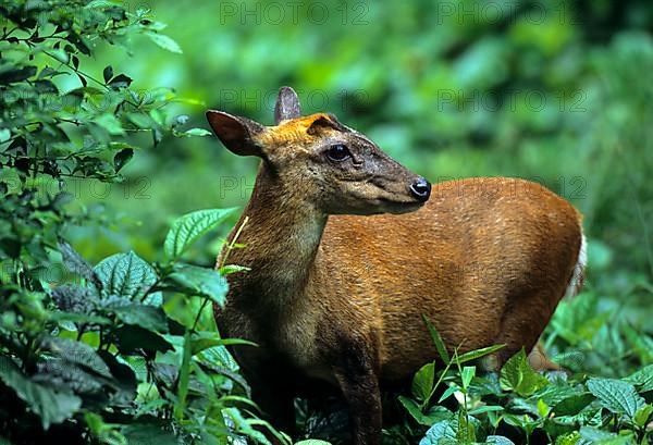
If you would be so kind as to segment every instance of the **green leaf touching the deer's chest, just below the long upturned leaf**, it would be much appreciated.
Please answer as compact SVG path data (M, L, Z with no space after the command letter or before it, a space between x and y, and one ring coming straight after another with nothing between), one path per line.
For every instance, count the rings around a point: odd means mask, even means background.
M178 291L187 295L198 295L210 298L213 302L224 306L229 285L218 271L190 264L175 264L168 279Z

